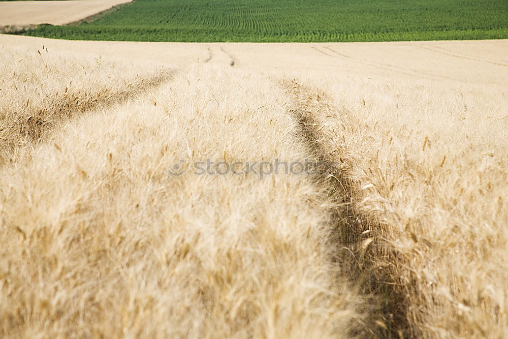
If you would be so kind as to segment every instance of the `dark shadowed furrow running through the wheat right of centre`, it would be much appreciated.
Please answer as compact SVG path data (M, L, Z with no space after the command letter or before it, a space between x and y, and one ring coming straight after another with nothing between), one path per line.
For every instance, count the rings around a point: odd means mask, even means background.
M369 318L365 320L368 330L376 336L415 336L418 332L407 314L407 291L395 279L398 266L379 266L377 261L383 258L386 263L393 262L397 254L383 243L383 225L366 218L357 208L352 150L345 140L340 140L341 130L352 128L347 113L319 88L306 87L296 80L284 80L281 86L291 97L288 111L320 168L314 181L334 202L329 219L333 229L329 242L337 249L334 261L356 282L363 297L370 300Z

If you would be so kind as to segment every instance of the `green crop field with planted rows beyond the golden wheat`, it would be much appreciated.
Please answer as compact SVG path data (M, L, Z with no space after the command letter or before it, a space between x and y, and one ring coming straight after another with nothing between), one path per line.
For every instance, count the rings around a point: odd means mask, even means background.
M136 0L25 35L76 40L339 42L508 38L507 0Z

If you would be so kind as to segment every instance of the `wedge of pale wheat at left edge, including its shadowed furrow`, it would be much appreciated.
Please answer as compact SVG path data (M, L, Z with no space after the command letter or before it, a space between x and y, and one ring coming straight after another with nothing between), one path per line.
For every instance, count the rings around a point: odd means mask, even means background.
M0 62L2 162L75 116L135 100L169 77L162 69L119 66L102 57L54 55L44 45L29 54L4 47ZM113 70L115 77L104 76Z

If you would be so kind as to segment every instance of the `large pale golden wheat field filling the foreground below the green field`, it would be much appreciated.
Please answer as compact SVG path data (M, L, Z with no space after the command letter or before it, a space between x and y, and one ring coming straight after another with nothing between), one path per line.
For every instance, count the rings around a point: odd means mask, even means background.
M508 333L508 41L0 50L0 336Z

